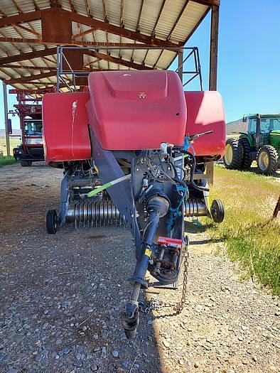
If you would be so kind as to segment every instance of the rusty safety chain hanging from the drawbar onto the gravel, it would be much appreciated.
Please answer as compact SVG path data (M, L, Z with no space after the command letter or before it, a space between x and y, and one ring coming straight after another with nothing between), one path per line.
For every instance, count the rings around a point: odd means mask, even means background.
M181 313L185 306L185 298L187 296L187 284L188 284L188 246L184 252L184 264L183 264L183 289L181 300L177 303L158 301L156 298L151 298L144 306L144 302L139 302L139 311L142 313L149 313L150 310L162 310L164 307L173 308L176 313Z

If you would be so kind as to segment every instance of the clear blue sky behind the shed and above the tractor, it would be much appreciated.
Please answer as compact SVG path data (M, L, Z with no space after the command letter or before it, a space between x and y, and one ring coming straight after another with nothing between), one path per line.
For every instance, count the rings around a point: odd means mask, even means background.
M227 121L249 112L280 112L280 0L221 0L217 89ZM187 46L198 46L208 88L210 15ZM198 81L190 86L198 90ZM14 96L9 97L12 109ZM0 128L4 128L0 85ZM16 126L15 126L16 128Z

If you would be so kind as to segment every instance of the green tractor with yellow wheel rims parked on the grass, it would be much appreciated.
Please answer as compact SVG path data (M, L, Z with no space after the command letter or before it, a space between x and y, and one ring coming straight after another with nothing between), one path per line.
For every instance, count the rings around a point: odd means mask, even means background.
M225 168L248 170L257 161L259 173L275 173L280 167L280 114L250 114L243 121L248 123L247 134L227 139Z

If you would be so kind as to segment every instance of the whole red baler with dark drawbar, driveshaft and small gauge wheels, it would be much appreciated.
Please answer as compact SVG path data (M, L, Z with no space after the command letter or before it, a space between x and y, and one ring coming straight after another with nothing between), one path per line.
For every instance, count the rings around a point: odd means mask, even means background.
M130 230L136 265L122 325L126 336L134 337L141 288L177 288L181 265L187 263L185 220L224 218L220 200L208 207L205 165L222 156L225 118L217 92L184 93L175 72L94 72L88 80L90 93L43 99L46 163L65 170L60 211L49 210L47 229L55 233L72 222ZM210 102L215 114L201 117ZM155 283L146 281L147 271Z

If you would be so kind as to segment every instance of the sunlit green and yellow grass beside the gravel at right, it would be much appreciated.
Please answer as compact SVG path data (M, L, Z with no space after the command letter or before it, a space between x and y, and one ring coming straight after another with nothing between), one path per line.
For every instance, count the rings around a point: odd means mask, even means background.
M244 277L257 278L280 295L280 220L271 219L278 180L216 166L210 199L220 198L226 215L220 225L210 225L208 233L213 242L227 243L226 252L239 261Z

